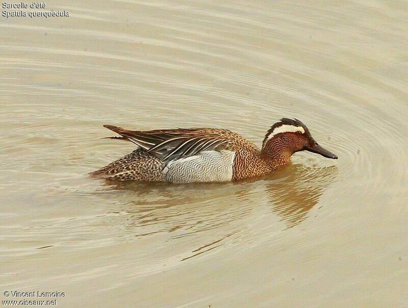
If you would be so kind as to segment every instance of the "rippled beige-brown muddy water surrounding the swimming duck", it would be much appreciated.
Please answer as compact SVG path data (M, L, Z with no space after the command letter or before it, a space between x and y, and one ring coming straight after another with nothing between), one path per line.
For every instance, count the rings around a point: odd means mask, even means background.
M0 294L60 306L406 306L408 3L52 1L0 18ZM114 124L297 117L338 161L236 184L87 178ZM12 298L8 298L12 299ZM21 298L18 298L21 299Z

